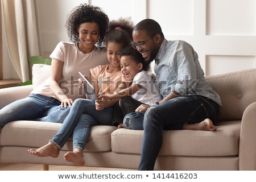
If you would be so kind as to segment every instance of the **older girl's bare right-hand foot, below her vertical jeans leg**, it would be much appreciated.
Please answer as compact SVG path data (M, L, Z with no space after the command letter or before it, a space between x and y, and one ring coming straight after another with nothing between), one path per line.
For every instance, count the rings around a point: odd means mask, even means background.
M80 148L75 148L75 150L68 151L64 154L64 159L68 162L77 164L78 166L84 166L85 160L82 158L82 150Z

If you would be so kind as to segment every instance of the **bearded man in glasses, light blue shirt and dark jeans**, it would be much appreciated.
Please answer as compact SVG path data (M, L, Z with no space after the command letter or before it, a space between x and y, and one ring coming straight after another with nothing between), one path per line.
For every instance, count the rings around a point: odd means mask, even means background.
M197 53L186 42L167 41L160 25L144 19L133 29L132 46L146 61L155 60L154 71L163 99L156 106L141 105L136 111L146 111L139 170L153 170L162 145L163 130L215 131L220 96L204 79ZM143 113L143 112L142 112Z

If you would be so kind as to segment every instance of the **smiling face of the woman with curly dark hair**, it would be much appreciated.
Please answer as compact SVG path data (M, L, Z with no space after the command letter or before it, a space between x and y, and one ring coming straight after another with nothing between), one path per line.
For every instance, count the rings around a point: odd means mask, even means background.
M98 23L82 23L77 31L79 32L80 51L84 53L91 52L100 36L100 27L98 26Z

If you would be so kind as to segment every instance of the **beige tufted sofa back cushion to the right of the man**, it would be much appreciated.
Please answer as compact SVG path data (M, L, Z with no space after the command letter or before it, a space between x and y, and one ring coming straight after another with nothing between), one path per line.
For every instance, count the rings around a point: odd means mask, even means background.
M222 101L219 121L242 119L243 111L256 102L256 69L205 76Z

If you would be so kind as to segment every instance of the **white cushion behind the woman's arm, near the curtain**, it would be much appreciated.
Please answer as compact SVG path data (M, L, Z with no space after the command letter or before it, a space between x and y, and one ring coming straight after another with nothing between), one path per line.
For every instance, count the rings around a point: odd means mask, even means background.
M32 66L32 85L35 89L38 85L42 84L51 76L51 65L47 64L33 64Z

